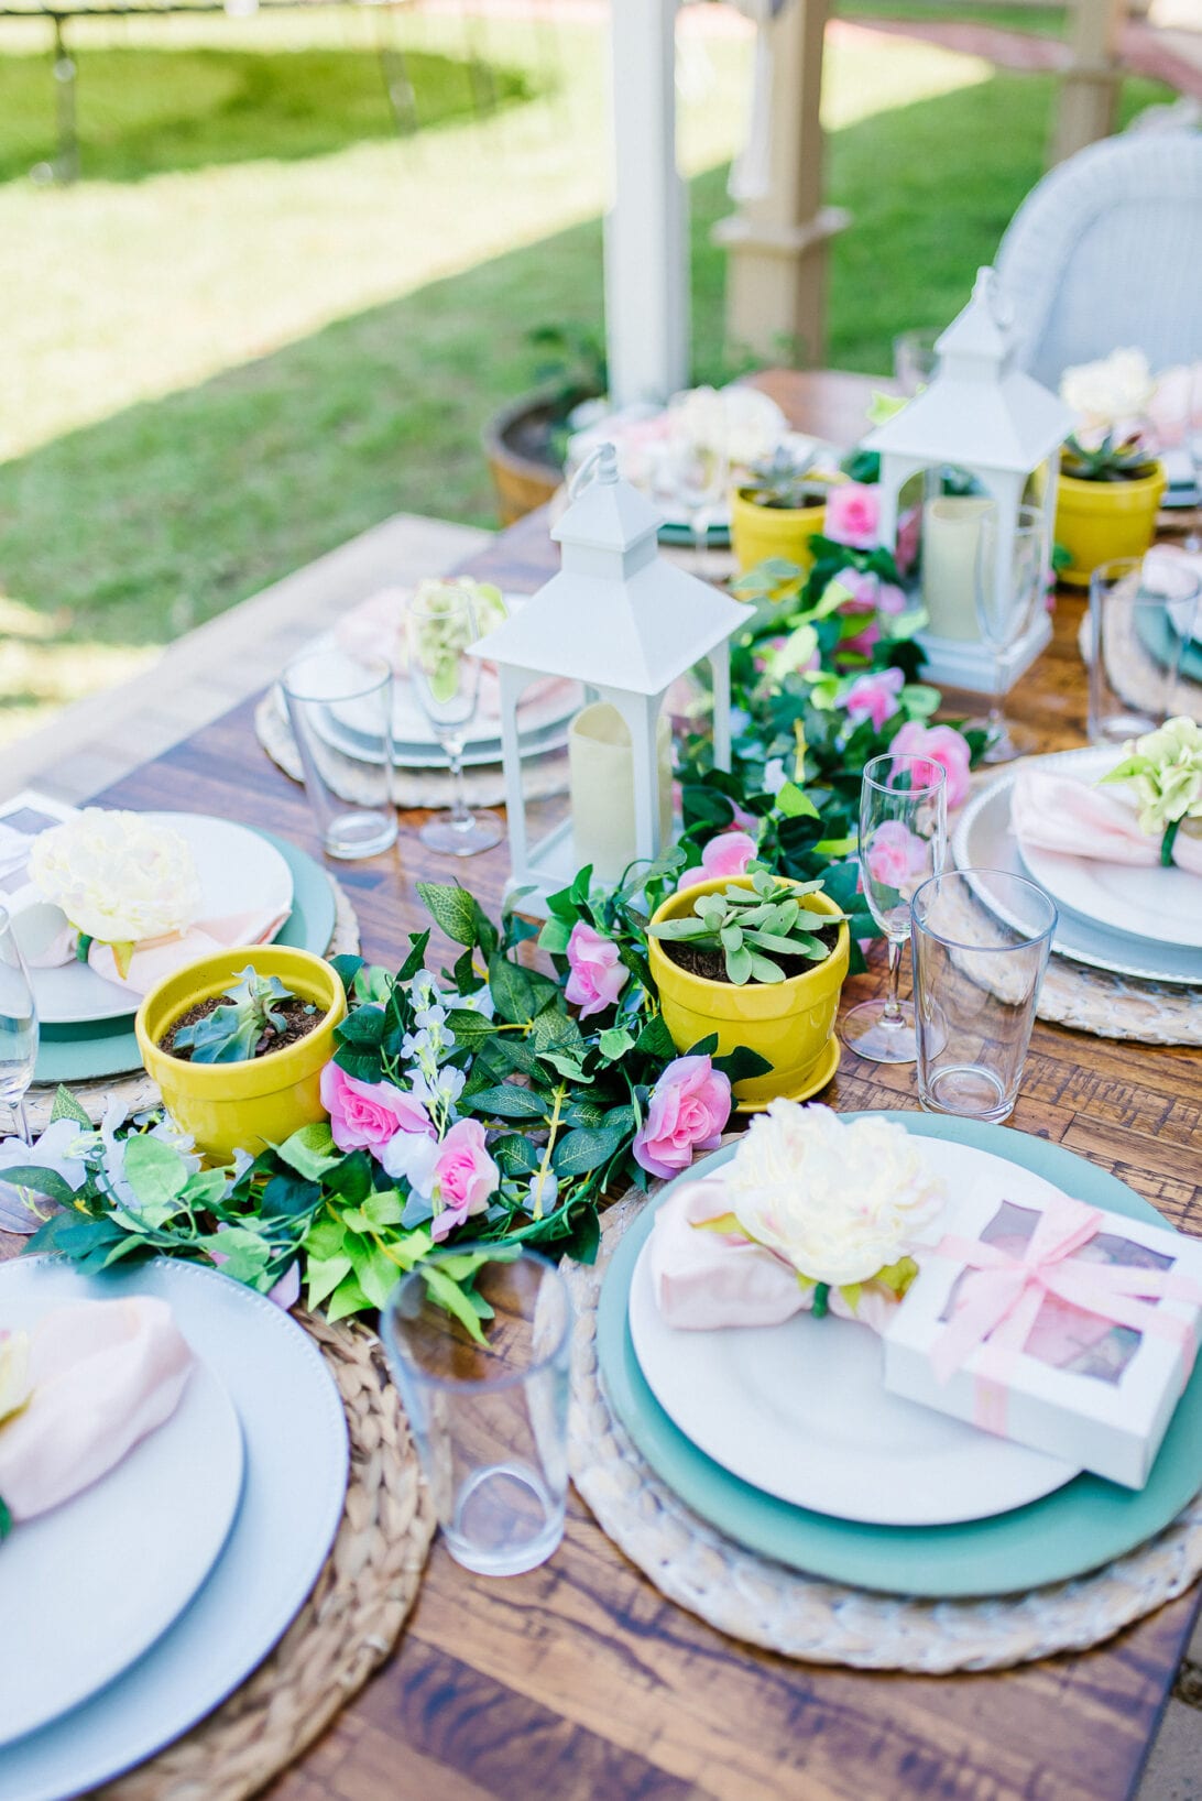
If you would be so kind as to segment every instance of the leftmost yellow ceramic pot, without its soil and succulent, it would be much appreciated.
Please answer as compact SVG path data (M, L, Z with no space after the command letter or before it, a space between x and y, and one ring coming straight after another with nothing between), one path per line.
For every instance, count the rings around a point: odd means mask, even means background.
M321 1007L321 1023L294 1045L250 1063L189 1063L159 1048L189 1007L223 994L247 964L261 976L279 976L294 994ZM171 1117L193 1135L196 1149L225 1163L236 1149L254 1156L326 1117L321 1072L333 1055L333 1028L344 1018L346 992L330 964L310 951L252 944L202 956L166 976L139 1007L135 1032L146 1073L159 1082Z

